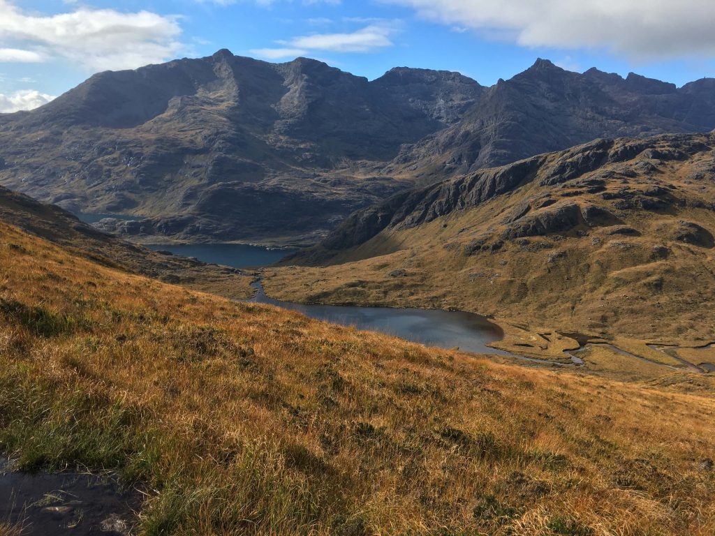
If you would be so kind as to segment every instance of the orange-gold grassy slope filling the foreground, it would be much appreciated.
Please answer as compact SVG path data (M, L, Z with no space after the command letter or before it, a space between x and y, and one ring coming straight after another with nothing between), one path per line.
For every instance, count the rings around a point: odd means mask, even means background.
M0 223L0 450L119 470L146 534L711 534L713 386L689 377L425 349Z

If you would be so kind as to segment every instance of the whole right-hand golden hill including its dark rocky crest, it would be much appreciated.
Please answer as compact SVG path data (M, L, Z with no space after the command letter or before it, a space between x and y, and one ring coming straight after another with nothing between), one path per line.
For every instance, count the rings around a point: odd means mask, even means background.
M553 329L707 344L714 149L715 134L599 139L405 192L284 262L297 266L267 269L265 286L490 315L526 330L521 352Z

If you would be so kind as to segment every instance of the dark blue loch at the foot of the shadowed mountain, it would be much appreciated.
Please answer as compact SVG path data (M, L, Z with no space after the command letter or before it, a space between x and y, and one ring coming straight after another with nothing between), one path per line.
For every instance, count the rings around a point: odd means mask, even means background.
M149 244L147 247L234 268L267 266L295 252L295 249L267 249L245 244Z

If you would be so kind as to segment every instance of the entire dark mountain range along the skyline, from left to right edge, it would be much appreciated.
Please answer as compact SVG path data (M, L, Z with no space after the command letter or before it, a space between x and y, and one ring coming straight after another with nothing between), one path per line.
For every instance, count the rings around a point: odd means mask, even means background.
M103 72L0 116L0 183L135 241L314 244L355 209L598 137L715 128L713 80L676 88L539 60L491 88L227 50Z

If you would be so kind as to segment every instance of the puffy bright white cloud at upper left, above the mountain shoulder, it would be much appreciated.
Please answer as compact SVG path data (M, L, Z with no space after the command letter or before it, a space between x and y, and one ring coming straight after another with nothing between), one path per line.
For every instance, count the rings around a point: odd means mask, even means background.
M41 16L0 0L0 13L0 39L24 44L31 51L23 51L37 54L37 61L61 56L89 70L134 69L166 61L182 49L177 17L150 11L80 7Z

